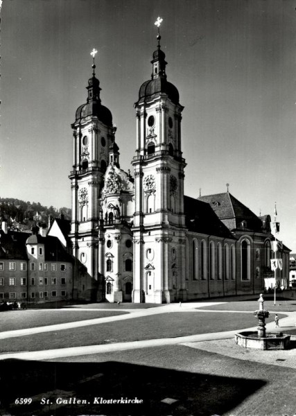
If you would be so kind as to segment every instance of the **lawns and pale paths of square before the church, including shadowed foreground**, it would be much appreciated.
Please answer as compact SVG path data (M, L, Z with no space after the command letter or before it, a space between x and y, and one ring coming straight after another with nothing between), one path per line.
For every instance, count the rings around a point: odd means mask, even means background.
M48 315L53 318L48 318L45 326L34 321L40 311L24 311L30 319L23 328L13 324L12 315L23 311L10 311L6 316L11 320L11 330L0 332L0 415L293 416L296 302L277 302L275 311L272 305L268 307L267 330L292 336L291 348L286 351L243 349L235 344L234 333L256 328L254 306L256 300L190 302L148 309L130 309L125 304L77 305L49 310ZM73 320L78 310L86 315ZM96 318L94 311L104 314ZM275 312L281 318L279 329L273 322ZM60 323L51 324L56 313ZM85 319L87 313L92 313L89 319ZM5 314L1 316L4 318ZM227 330L233 328L238 316L239 324L245 320L254 322L254 326ZM162 322L169 322L171 329L166 329L163 337L146 339L141 331L148 331L147 320L153 322L156 333ZM172 322L177 325L192 320L196 331L189 325L186 328L190 333L177 336ZM132 334L139 333L137 340L125 340L127 325ZM110 331L114 328L114 338L101 343L106 327ZM201 330L204 327L207 331ZM88 345L92 333L96 333L98 343ZM85 343L76 346L75 339L82 334ZM52 338L60 339L67 347L51 348ZM65 338L69 338L69 343L64 343ZM34 340L33 345L27 343L30 339ZM10 351L7 345L11 346ZM19 395L24 397L24 390L32 404L15 404ZM105 403L108 399L132 400L136 396L143 403ZM62 402L56 403L59 399Z

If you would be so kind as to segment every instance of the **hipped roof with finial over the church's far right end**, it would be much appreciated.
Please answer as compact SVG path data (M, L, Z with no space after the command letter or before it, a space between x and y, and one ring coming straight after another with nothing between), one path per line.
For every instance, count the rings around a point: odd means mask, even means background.
M247 229L262 231L261 219L229 192L200 196L198 200L207 202L220 220L235 220L236 228L240 228L242 221L245 220Z

